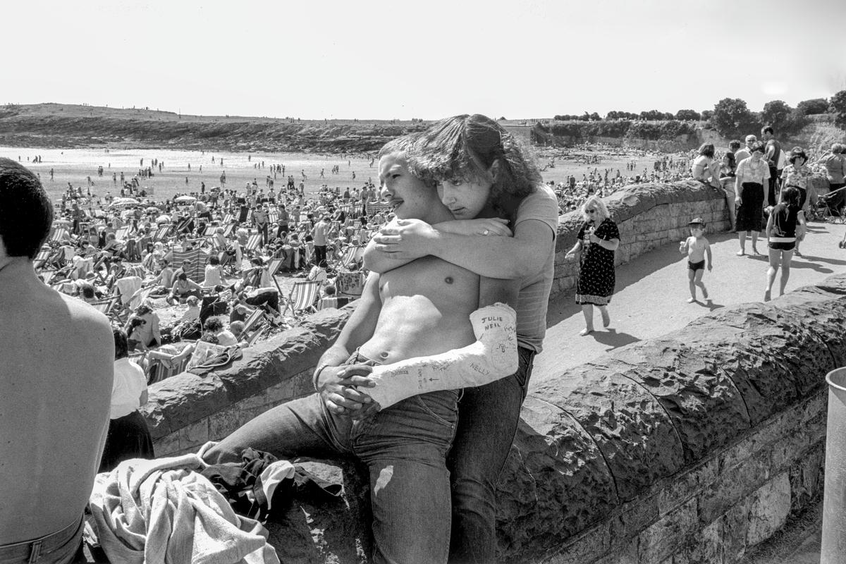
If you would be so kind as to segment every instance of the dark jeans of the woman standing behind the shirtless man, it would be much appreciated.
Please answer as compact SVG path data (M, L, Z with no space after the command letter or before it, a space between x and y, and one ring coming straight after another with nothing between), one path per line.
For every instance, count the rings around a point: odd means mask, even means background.
M535 352L518 348L513 375L465 388L459 429L447 461L453 490L449 561L488 564L497 556L497 480L508 458Z

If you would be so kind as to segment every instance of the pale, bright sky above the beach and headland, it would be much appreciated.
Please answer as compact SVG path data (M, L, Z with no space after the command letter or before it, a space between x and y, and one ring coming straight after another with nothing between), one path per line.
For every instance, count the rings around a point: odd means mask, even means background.
M32 0L3 24L0 103L522 119L846 90L846 0Z

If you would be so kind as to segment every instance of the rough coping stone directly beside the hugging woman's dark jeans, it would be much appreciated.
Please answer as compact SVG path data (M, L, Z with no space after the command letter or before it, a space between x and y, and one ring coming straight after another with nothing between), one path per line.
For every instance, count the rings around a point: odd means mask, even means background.
M560 550L565 539L606 517L617 503L613 478L591 436L569 413L527 397L497 488L500 559Z

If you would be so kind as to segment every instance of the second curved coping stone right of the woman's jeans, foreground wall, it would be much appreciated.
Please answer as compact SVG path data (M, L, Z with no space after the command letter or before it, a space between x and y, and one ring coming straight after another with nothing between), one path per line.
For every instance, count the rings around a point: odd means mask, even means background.
M531 396L571 413L605 457L621 500L682 466L682 446L655 397L604 366L607 357L538 384Z

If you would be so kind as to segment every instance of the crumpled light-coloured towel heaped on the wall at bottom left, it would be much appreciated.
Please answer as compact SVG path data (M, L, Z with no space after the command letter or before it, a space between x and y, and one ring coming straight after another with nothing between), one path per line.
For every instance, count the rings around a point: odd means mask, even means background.
M199 474L198 454L118 464L97 474L88 507L113 562L278 564L267 531L239 517Z

